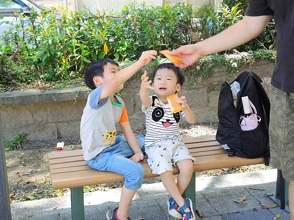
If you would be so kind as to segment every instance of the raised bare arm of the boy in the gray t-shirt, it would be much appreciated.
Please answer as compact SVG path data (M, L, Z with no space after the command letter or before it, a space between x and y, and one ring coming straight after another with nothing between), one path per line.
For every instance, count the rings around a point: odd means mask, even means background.
M118 71L115 77L113 77L113 79L104 86L99 100L115 93L118 88L122 86L125 81L131 78L141 67L148 64L152 59L156 59L156 54L156 50L144 51L137 62Z

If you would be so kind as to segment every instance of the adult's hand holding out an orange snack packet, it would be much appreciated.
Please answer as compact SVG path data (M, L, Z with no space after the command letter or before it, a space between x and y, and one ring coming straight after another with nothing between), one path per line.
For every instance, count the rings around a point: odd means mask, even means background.
M197 49L196 44L181 46L173 50L171 54L179 59L179 63L174 64L174 66L179 68L191 66L201 57L200 51Z

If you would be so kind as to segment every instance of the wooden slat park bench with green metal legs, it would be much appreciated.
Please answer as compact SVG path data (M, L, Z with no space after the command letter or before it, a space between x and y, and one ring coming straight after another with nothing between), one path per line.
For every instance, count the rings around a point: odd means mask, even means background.
M196 158L194 172L264 163L264 158L246 159L228 156L227 152L216 141L215 136L185 138L184 143L192 156ZM48 160L52 189L71 189L73 220L84 219L83 186L124 180L124 177L119 174L97 171L90 168L83 159L82 150L49 153ZM158 176L152 174L151 169L148 167L147 155L145 155L141 164L145 169L144 178ZM178 173L178 168L174 167L173 174ZM184 193L184 197L189 197L192 201L196 200L195 173Z

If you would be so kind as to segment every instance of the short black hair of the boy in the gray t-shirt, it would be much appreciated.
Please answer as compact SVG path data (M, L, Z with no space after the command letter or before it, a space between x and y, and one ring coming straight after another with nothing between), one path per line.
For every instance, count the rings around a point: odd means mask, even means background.
M93 78L95 76L101 76L101 77L104 76L104 66L107 63L111 63L114 65L120 66L114 60L109 59L109 58L104 58L104 59L92 61L90 64L88 64L85 67L84 77L85 77L85 84L87 87L91 88L92 90L94 90L96 88L96 86L93 82Z

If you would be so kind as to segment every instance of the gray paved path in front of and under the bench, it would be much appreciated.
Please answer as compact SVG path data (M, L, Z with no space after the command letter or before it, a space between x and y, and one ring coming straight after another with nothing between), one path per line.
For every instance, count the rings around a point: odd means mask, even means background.
M270 204L275 193L276 170L238 173L196 178L196 209L204 214L201 220L290 220L280 207L262 209ZM252 189L253 188L253 189ZM259 190L257 190L259 189ZM243 203L235 199L246 196ZM120 189L85 193L85 219L103 220L110 207L118 205ZM168 193L162 183L143 184L133 199L132 220L172 220L167 212ZM70 196L47 198L11 204L14 220L71 220ZM197 218L198 219L198 218Z

